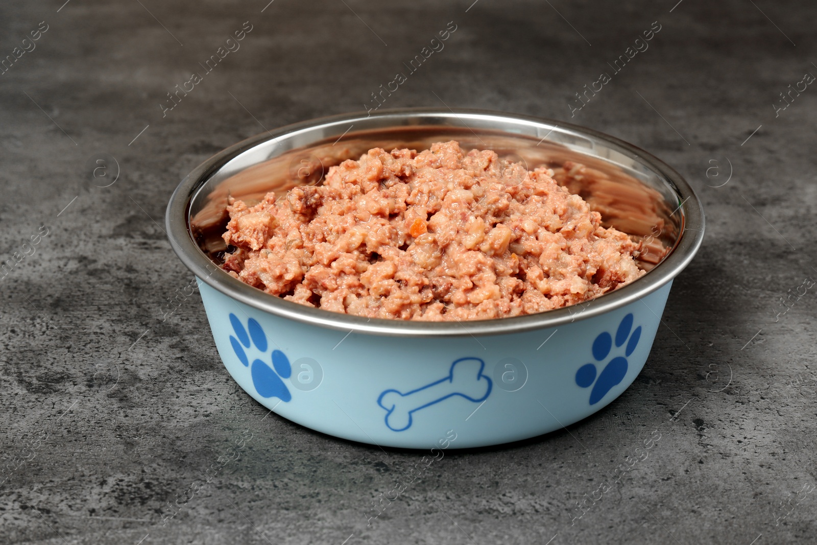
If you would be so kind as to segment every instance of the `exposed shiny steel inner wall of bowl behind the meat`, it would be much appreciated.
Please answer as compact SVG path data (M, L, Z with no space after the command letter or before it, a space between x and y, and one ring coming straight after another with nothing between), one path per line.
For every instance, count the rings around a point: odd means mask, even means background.
M600 212L605 227L647 239L654 248L640 258L639 264L646 270L676 245L684 220L683 213L673 213L679 211L677 194L661 172L643 159L617 149L612 142L565 127L522 127L529 130L509 133L467 121L470 127L438 123L359 131L354 131L355 123L349 123L346 127L352 127L342 136L327 136L333 127L312 127L270 138L230 159L194 194L191 232L199 248L213 261L221 262L226 250L221 235L229 219L228 196L257 203L269 191L282 196L295 185L315 185L329 168L346 159L359 159L375 147L421 151L436 141L456 140L463 150L494 150L500 159L523 163L529 170L542 166L555 169L557 181ZM543 128L547 132L539 136ZM567 162L581 163L590 170L583 176L570 176L562 169Z

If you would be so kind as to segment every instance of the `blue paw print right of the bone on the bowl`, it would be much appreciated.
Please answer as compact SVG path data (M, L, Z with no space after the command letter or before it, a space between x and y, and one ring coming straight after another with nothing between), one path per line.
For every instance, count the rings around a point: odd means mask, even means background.
M578 386L582 386L583 388L593 386L593 389L590 391L590 404L594 405L598 403L601 398L607 395L607 392L621 382L624 375L627 374L627 357L629 357L632 352L636 350L636 346L638 346L638 341L641 338L641 326L638 326L635 331L632 331L632 335L630 334L631 330L632 314L628 314L621 319L621 323L618 324L618 331L615 333L616 348L624 346L625 342L627 343L627 347L624 349L624 355L617 355L612 360L609 360L607 365L605 365L605 369L601 369L601 373L598 373L596 364L584 364L576 371L576 384L578 384ZM627 341L627 337L629 337L629 341ZM593 341L593 357L596 361L602 362L607 359L612 348L613 337L606 331L599 333L599 336Z

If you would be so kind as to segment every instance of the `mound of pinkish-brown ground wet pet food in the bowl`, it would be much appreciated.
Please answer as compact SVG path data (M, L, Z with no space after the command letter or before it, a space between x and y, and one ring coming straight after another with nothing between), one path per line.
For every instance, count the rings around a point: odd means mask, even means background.
M643 275L639 244L551 176L456 141L375 148L285 199L230 199L224 267L302 305L420 320L533 314Z

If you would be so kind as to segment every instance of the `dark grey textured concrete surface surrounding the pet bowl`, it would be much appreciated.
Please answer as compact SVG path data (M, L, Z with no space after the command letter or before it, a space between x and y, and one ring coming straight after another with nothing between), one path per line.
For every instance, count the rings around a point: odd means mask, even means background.
M814 542L817 288L780 299L817 279L817 87L774 105L817 74L817 6L472 1L3 3L0 56L47 31L0 75L0 257L33 252L0 279L0 542ZM567 431L447 453L367 527L423 453L265 418L197 294L163 320L191 276L162 218L203 159L261 126L362 109L452 20L386 106L502 109L631 141L690 181L708 233L624 395ZM656 20L649 49L570 119L574 93ZM239 51L163 117L244 21ZM115 163L94 179L103 157ZM181 507L163 524L168 503Z

